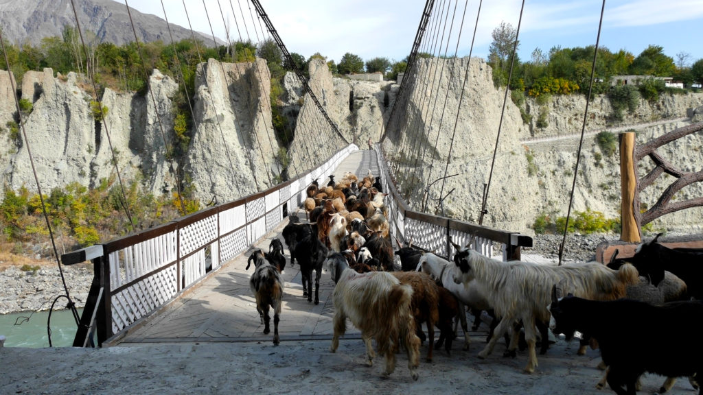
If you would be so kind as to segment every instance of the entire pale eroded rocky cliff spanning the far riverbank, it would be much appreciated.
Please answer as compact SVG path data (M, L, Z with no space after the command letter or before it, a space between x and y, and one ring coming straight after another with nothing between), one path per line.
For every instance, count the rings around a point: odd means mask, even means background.
M426 185L443 177L447 167L446 175L451 177L444 188L441 181L434 182L428 211L434 212L440 191L443 196L451 191L444 200L444 213L477 221L484 183L491 177L484 224L511 231L529 233L529 226L540 214L565 215L586 101L576 95L555 96L541 105L528 99L524 110L533 121L525 124L520 110L508 100L490 176L505 91L494 87L491 68L476 58L458 59L454 66L455 76L469 71L463 98L462 79L450 81L446 70L437 74L442 77L434 86L432 79L422 77L453 61L419 60L415 72L406 76L408 82L417 82L397 122L420 143L414 145L418 147L415 153L406 152L401 158L399 181L415 179ZM281 104L283 113L296 125L295 138L287 147L290 176L307 171L311 164L338 150L343 145L342 136L360 148L366 148L369 138L378 141L399 88L392 82L335 78L322 62L311 63L309 70L309 85L341 136L333 133L313 101L301 98L302 86L295 76L287 75L283 86L287 97ZM178 90L172 78L155 70L146 94L106 89L102 101L108 115L100 124L91 114L91 89L81 76L53 75L50 69L27 73L21 96L34 108L25 118L25 130L42 188L50 190L71 182L96 186L101 179L114 178L110 143L123 178L136 180L157 195L172 193L176 170L181 171L184 186L202 203L213 197L218 202L233 200L276 184L283 171L278 160L282 145L271 124L270 77L264 61L233 65L209 60L198 66L195 84L191 141L182 157L169 161L165 146L174 145L172 98ZM574 210L619 216L619 159L617 154L601 152L595 143L596 131L633 127L638 129L638 142L643 143L688 124L687 116L700 122L701 115L693 109L702 105L702 94L666 95L655 105L642 101L624 122L612 124L610 101L594 98L589 105L589 134L581 152ZM546 125L537 127L534 120L545 106ZM10 77L0 73L0 183L32 190L36 187L26 144L11 138L6 127L15 112ZM644 122L662 117L671 118L671 122L643 127L647 125ZM396 125L392 122L389 131ZM389 136L390 150L401 151L404 140L393 133ZM697 171L703 168L702 147L703 136L695 134L661 152L683 169ZM421 160L415 162L416 156ZM651 161L643 161L640 176L651 167ZM666 180L647 188L643 202L651 206L665 187ZM412 188L411 206L419 209L424 195L423 188ZM703 187L690 186L676 199L699 195L703 195ZM702 217L703 210L692 209L664 216L655 226L699 229Z

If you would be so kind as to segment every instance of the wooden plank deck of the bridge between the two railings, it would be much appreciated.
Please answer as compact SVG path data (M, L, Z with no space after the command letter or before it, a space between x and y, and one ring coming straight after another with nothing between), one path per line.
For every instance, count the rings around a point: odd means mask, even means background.
M340 163L333 174L340 180L347 171L359 176L366 176L368 169L378 175L378 162L375 152L361 150L352 153ZM325 174L325 177L327 175ZM318 180L326 185L329 179ZM297 213L302 221L305 214L302 209ZM184 292L181 297L158 311L153 316L131 328L126 335L112 341L115 344L130 343L174 343L174 342L270 342L273 335L264 335L264 325L259 321L254 295L249 287L249 278L254 272L253 266L245 271L247 258L251 251L260 248L269 250L272 238L279 238L288 220L267 234L247 250L226 262L219 270L210 273L207 278ZM285 246L285 242L284 242ZM332 291L334 283L327 271L323 271L320 282L320 304L307 302L303 298L299 266L290 266L290 252L285 248L288 264L283 271L285 290L283 309L278 325L281 341L301 339L331 339L333 335L332 318L334 306ZM313 276L314 273L313 273ZM314 285L313 285L314 288ZM313 290L314 292L314 290ZM273 325L273 316L271 320ZM271 328L273 330L273 328ZM344 338L358 338L359 330L351 323L347 325Z

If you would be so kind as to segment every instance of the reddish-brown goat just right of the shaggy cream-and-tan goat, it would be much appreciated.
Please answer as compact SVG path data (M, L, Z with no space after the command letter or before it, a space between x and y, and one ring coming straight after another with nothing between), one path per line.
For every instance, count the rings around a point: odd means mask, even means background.
M401 284L408 284L413 287L413 298L411 299L411 309L415 317L415 326L420 342L425 341L423 323L427 325L427 335L430 341L427 344L427 361L432 361L432 350L434 349L434 325L439 322L439 290L437 283L419 271L395 271L393 272ZM451 326L451 325L450 325ZM420 343L421 344L421 343Z

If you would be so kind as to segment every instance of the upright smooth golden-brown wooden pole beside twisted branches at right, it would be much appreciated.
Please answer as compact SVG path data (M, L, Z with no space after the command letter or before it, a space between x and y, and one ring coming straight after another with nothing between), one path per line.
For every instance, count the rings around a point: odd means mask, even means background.
M620 187L621 187L621 224L620 240L641 242L642 236L636 214L640 207L636 200L637 171L634 160L635 134L621 133L620 139Z

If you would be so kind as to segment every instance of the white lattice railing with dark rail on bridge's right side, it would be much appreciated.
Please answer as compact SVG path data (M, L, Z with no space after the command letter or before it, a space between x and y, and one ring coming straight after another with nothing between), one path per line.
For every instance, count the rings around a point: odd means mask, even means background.
M501 254L504 261L520 259L520 247L532 245L532 239L520 233L468 224L408 209L392 182L380 145L375 145L374 150L378 158L380 182L388 193L388 222L391 225L391 233L397 240L412 242L413 246L447 259L456 252L452 242L462 247L471 242L475 250L487 257L497 257Z

